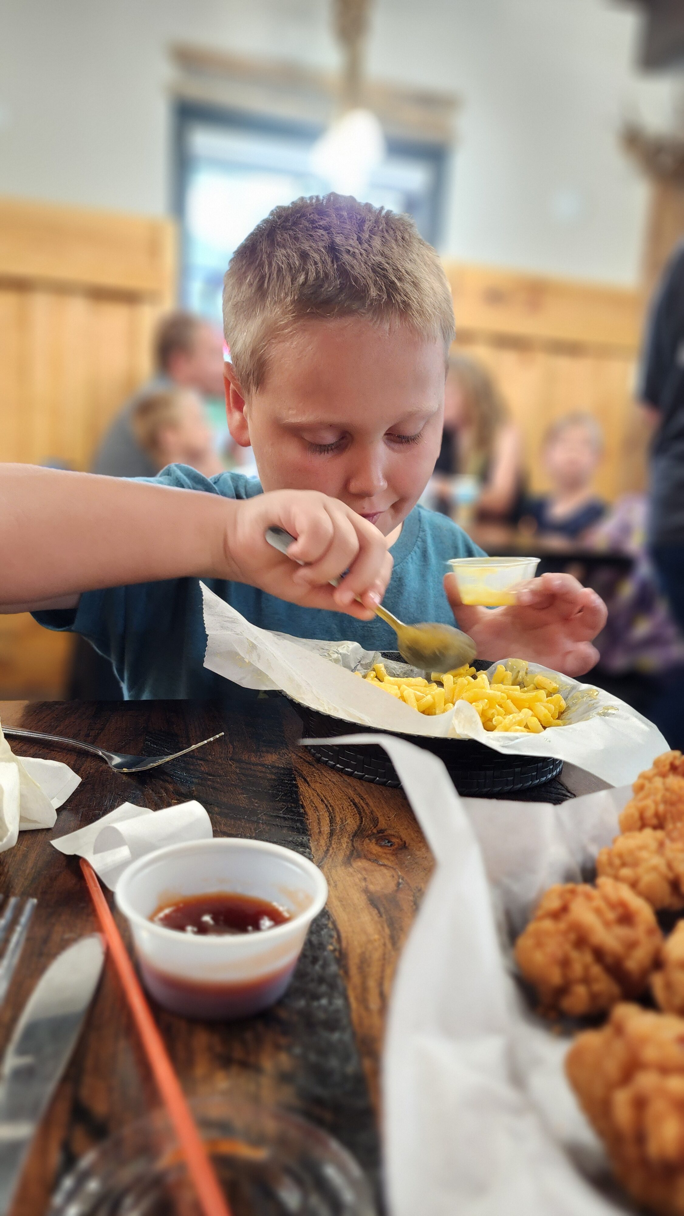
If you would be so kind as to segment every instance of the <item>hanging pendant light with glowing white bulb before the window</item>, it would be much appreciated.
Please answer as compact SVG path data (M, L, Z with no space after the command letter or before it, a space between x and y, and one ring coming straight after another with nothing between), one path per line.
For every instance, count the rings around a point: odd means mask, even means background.
M362 106L363 47L371 0L333 0L335 34L343 49L340 112L311 150L311 168L340 195L362 197L385 158L379 119Z

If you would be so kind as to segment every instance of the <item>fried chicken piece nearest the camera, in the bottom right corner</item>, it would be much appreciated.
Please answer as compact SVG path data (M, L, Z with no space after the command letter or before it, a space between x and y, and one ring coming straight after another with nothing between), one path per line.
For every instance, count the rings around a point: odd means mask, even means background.
M578 1035L565 1071L626 1190L684 1216L684 1019L618 1004Z

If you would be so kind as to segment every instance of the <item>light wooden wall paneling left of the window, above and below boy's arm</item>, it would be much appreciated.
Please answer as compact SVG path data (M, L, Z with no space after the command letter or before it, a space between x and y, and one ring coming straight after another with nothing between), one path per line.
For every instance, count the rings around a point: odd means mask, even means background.
M149 375L175 225L0 199L0 461L89 468ZM0 696L61 697L73 640L0 615Z

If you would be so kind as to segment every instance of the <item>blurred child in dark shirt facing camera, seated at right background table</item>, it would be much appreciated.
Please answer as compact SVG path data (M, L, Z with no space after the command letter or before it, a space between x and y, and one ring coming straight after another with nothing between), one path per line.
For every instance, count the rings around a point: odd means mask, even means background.
M603 447L601 429L590 413L567 413L554 422L542 446L550 492L526 500L525 522L533 522L538 533L567 540L578 540L598 524L606 511L593 488Z

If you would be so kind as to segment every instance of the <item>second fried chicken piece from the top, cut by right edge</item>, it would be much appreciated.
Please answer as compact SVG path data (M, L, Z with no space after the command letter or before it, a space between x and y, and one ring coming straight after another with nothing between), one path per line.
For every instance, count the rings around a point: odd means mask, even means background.
M626 883L654 908L684 907L684 852L654 828L626 832L597 857L597 874Z

